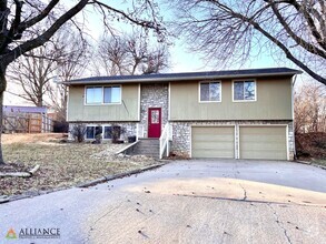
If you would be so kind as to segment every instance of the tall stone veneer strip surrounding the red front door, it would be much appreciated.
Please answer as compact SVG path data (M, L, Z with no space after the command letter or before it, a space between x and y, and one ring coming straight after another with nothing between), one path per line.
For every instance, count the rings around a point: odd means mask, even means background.
M168 83L141 84L140 89L140 125L144 126L144 136L148 131L148 108L161 108L161 131L168 122L169 109Z

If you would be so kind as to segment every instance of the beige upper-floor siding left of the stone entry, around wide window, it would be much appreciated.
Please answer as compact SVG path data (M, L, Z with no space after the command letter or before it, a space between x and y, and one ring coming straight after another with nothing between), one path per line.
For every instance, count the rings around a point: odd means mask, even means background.
M138 121L139 85L121 85L121 104L85 104L85 85L69 88L68 121Z

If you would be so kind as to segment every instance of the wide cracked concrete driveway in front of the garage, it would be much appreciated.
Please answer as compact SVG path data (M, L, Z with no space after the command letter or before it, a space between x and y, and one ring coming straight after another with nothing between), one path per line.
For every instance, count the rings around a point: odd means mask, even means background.
M0 243L326 243L326 171L275 161L176 161L1 204L0 217ZM10 228L14 241L6 238ZM22 238L30 228L58 228L60 236Z

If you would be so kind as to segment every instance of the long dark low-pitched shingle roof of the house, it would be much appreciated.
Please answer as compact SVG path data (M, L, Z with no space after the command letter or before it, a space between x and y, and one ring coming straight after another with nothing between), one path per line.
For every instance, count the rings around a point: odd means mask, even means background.
M299 70L288 68L266 68L250 70L223 70L207 72L187 73L156 73L138 75L115 75L115 77L90 77L63 82L65 84L91 84L91 83L147 83L147 82L168 82L185 80L209 80L209 79L237 79L256 77L293 77L303 73Z

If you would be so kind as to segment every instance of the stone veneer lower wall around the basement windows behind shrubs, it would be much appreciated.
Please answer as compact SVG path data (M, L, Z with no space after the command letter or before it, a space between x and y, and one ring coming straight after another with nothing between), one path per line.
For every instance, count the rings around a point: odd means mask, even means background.
M73 130L73 126L77 123L69 123L69 133L68 133L68 140L72 141L73 138L71 135L71 131ZM119 125L125 130L125 133L121 133L120 140L128 141L128 136L136 135L137 130L137 123L135 122L100 122L100 123L83 123L83 125L96 125L96 126L112 126L112 125ZM93 139L91 139L92 141ZM103 140L103 141L111 141L111 140Z

